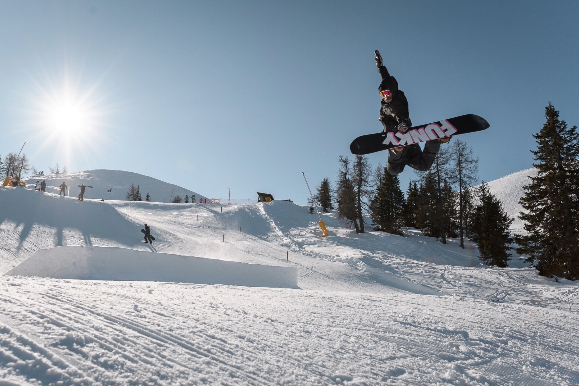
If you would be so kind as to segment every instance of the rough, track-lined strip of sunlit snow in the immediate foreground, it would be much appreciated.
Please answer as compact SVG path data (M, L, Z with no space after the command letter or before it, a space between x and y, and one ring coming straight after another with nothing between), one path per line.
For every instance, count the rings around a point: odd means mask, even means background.
M0 384L570 386L579 376L579 357L563 350L579 342L579 316L548 308L6 276L0 289ZM568 323L569 336L555 334ZM21 373L19 344L45 363L38 381Z

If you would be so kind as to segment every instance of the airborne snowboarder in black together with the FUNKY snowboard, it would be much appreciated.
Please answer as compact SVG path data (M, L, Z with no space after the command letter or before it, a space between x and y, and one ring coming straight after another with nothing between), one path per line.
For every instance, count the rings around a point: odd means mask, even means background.
M488 122L477 115L463 115L423 126L412 126L404 91L398 88L398 81L384 66L378 50L374 54L376 67L382 77L378 91L382 97L379 120L383 130L382 133L362 135L354 139L350 145L353 154L364 155L388 150L386 170L390 175L400 174L406 165L418 171L427 171L433 165L441 144L450 141L452 135L489 127ZM420 149L420 142L425 142L424 150Z

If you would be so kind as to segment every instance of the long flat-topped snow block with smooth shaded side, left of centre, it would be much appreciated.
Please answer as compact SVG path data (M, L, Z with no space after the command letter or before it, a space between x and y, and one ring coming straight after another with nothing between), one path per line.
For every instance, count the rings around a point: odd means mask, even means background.
M94 245L39 249L6 275L298 288L298 270Z

